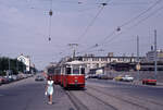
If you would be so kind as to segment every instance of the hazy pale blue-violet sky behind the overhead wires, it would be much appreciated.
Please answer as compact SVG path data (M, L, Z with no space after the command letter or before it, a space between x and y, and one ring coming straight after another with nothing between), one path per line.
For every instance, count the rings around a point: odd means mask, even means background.
M136 56L139 36L146 56L156 29L163 49L163 0L0 0L0 57L23 53L39 70L71 56L68 44L77 56Z

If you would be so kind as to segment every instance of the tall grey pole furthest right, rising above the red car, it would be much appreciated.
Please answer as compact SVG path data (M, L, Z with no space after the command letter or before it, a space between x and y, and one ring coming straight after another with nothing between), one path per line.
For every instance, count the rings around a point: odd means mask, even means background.
M156 29L154 29L154 74L155 74L155 80L156 80L156 61L158 61L158 53L156 53Z

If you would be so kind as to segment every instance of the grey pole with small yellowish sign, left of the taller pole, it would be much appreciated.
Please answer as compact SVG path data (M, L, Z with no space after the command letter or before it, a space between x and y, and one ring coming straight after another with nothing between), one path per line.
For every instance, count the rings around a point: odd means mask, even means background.
M139 36L137 36L137 78L139 81L139 70L140 70L140 61L139 61Z

